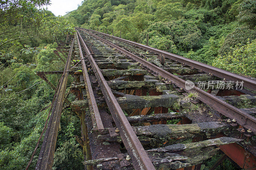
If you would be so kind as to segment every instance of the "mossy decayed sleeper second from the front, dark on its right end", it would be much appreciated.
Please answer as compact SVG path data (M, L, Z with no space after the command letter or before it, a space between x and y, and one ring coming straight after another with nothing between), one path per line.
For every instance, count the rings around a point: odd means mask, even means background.
M214 135L228 130L230 126L224 122L203 122L182 125L154 124L150 126L134 126L133 128L144 147L161 147L164 143L177 144L195 136L214 137ZM111 137L108 130L98 135L98 138L105 141L121 142L120 137Z

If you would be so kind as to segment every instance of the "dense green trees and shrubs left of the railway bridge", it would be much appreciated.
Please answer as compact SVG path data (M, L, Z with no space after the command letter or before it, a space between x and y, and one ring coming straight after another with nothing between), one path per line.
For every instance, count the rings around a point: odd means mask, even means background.
M41 8L48 3L1 1L0 169L25 169L44 128L54 91L35 72L63 70L65 65L54 54L55 37L65 40L64 35L74 33L74 25ZM58 78L48 76L54 85ZM54 167L80 169L83 150L74 138L80 132L80 120L67 109L61 128L55 152L61 156L54 160ZM41 145L42 140L29 169L35 169Z

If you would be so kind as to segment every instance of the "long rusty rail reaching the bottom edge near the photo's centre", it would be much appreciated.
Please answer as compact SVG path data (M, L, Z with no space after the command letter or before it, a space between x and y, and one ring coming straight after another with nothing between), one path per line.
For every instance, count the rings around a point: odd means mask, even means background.
M120 133L120 136L124 143L124 146L132 158L133 167L136 170L138 170L138 169L154 170L155 167L153 166L151 160L149 159L147 152L144 150L138 137L136 136L135 132L133 131L132 126L130 125L126 116L124 115L123 110L119 106L114 94L112 93L110 87L108 86L107 81L103 77L103 75L100 71L100 68L98 67L95 60L93 59L82 36L80 35L80 33L78 31L77 31L77 34L78 34L78 36L81 40L81 43L86 51L86 54L88 55L93 72L95 73L95 76L98 79L98 83L99 83L101 91L106 99L110 113L113 116L113 119L116 123L116 127L120 130L119 133Z

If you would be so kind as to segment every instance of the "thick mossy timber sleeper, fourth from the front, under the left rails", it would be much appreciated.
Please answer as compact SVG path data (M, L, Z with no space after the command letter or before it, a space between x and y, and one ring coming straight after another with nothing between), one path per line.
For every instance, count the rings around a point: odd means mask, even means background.
M173 94L164 94L159 96L135 96L128 95L116 98L120 107L125 109L145 108L145 107L172 107L173 104L180 99L179 96ZM104 107L104 102L98 104L98 107ZM85 110L88 107L87 100L76 100L71 104L74 111Z

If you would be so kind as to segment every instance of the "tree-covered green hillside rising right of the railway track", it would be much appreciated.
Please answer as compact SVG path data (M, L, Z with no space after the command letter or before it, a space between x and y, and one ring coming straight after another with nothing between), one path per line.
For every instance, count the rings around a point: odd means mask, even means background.
M256 76L254 0L87 0L68 15L75 26Z

